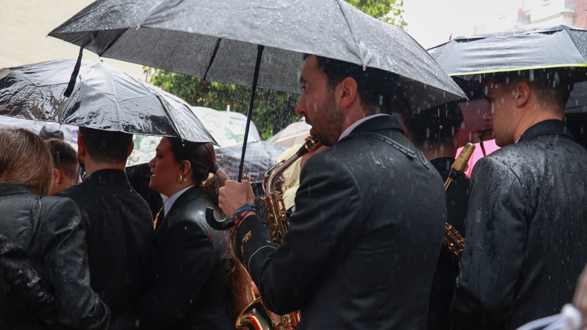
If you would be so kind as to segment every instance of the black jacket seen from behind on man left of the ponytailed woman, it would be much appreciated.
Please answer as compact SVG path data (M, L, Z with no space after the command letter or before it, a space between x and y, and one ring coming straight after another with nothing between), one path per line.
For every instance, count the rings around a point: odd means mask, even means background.
M140 297L153 244L153 217L122 170L100 170L56 196L79 205L87 222L90 284L116 317Z

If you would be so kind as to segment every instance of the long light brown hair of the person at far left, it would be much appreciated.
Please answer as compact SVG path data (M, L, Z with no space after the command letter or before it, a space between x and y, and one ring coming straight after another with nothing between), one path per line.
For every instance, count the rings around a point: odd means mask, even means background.
M46 195L53 166L49 147L37 134L26 129L0 130L0 183L20 183Z

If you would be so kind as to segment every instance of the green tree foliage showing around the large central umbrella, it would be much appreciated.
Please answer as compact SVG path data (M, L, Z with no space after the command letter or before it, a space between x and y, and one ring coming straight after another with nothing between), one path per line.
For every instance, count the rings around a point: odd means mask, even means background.
M346 0L368 15L392 25L406 26L403 19L403 0ZM227 83L207 82L192 76L161 69L146 68L150 82L177 95L190 105L224 111L247 113L251 87ZM299 119L295 106L299 96L275 90L257 89L252 121L264 139Z

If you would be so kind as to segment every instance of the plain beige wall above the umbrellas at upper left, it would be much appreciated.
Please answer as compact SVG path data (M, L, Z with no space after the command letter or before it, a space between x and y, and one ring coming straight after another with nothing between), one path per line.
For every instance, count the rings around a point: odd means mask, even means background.
M0 68L76 58L79 47L47 34L92 0L0 0ZM84 50L84 59L99 57ZM102 58L144 80L143 66Z

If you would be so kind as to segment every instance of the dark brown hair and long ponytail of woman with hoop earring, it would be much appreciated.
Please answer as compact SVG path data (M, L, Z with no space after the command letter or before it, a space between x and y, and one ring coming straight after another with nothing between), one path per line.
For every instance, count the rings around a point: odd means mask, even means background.
M203 183L200 184L202 193L214 204L218 213L222 214L220 207L218 207L218 196L220 194L218 190L224 187L228 180L228 175L216 164L216 153L212 143L194 143L173 137L168 139L171 143L171 152L173 152L176 161L179 163L184 160L190 162L195 183ZM225 240L230 260L228 267L230 271L232 314L235 318L252 301L251 276L247 272L247 268L238 260L236 239L236 228L228 230Z

